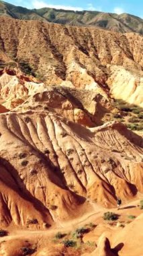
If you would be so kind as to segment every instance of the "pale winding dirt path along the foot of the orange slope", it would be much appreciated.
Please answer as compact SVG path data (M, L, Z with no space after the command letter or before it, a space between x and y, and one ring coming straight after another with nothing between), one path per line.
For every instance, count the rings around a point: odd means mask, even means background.
M85 224L89 224L90 222L95 223L97 219L103 216L104 212L110 211L115 212L115 214L132 214L139 215L140 209L138 205L140 204L140 200L136 199L134 201L130 201L129 203L125 203L121 206L121 209L118 211L117 208L113 208L111 210L107 210L97 204L94 204L94 212L91 214L85 214L81 218L77 218L76 220L62 222L60 227L50 228L48 230L13 230L9 232L9 236L5 236L5 241L11 240L11 238L31 238L32 236L38 236L38 239L42 236L54 236L56 232L71 232L75 230L75 228L84 226ZM3 238L0 238L0 242L3 241Z

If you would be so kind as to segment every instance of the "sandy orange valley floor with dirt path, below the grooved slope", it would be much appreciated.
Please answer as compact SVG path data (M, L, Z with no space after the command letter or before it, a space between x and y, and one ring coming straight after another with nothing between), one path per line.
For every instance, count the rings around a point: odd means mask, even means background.
M143 195L140 194L138 197L143 198ZM126 229L127 226L130 226L132 222L135 222L136 218L138 218L138 216L140 216L140 214L143 212L140 210L140 199L135 199L134 201L132 200L128 203L122 204L120 210L117 210L117 208L110 209L109 212L113 212L118 216L118 219L115 221L103 220L103 214L107 211L107 209L95 203L93 212L90 212L90 214L85 214L81 218L70 222L62 222L54 227L49 228L48 230L16 230L15 228L10 227L8 230L9 234L0 238L0 250L2 253L1 256L22 255L16 254L15 247L17 247L18 250L20 248L26 247L26 244L28 244L28 247L30 246L32 248L36 248L36 251L32 253L34 256L90 255L92 251L96 249L97 241L100 236L103 236L103 234L109 238L109 241L111 241L111 248L114 248L117 246L115 245L115 234L120 234L122 230L124 231L124 229ZM88 232L83 234L82 241L79 241L78 238L73 238L73 233L75 230L77 230L77 228L83 227L87 227ZM134 229L132 229L132 232L134 232ZM142 227L140 227L138 232L142 232ZM65 234L64 238L55 238L56 234L58 233ZM128 236L130 238L130 234L128 234ZM63 251L63 245L61 242L65 240L77 241L77 247L71 248L69 251L67 249L64 251L64 254L60 254L60 252ZM51 248L52 254L51 251L48 253L48 250L51 250ZM124 254L124 246L121 248L121 251L119 251L117 255L127 256L127 254ZM128 256L135 256L134 252L133 254L130 252ZM139 253L136 256L141 256L141 254Z

